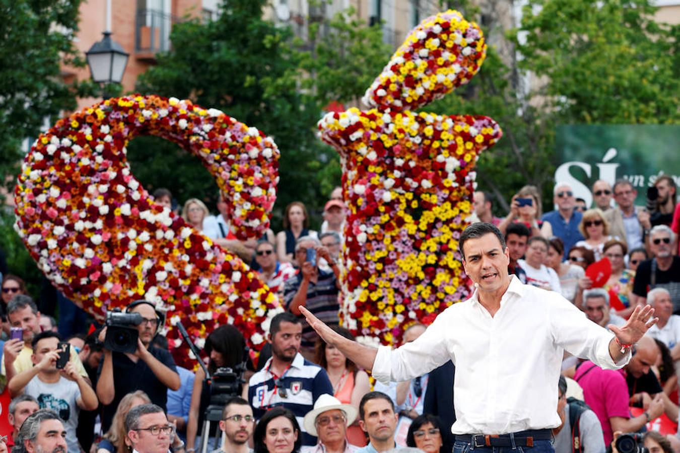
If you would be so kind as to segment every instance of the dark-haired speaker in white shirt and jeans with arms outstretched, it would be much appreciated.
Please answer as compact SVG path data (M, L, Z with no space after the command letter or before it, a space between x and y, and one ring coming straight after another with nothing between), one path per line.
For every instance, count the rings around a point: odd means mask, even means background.
M636 307L611 333L591 323L560 293L522 285L509 276L503 235L474 223L460 236L465 272L475 283L469 300L437 316L425 333L396 350L342 338L301 310L326 341L377 380L407 380L449 359L456 365L454 453L477 447L534 447L550 452L560 425L555 382L564 351L609 369L623 367L650 325L653 308ZM526 450L525 450L526 451Z

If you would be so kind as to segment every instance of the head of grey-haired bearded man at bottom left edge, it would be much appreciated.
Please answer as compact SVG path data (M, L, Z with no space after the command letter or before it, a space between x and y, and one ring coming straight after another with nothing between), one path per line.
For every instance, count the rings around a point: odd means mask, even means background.
M67 453L66 429L56 412L41 409L24 420L12 453Z

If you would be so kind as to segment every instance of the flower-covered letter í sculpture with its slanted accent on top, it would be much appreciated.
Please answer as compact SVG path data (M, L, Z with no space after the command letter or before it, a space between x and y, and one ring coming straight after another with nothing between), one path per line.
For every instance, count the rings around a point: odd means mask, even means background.
M368 111L328 113L340 153L345 222L343 323L394 344L415 321L469 295L458 238L479 153L501 136L486 116L416 113L468 82L486 56L479 27L449 10L427 18L367 90Z

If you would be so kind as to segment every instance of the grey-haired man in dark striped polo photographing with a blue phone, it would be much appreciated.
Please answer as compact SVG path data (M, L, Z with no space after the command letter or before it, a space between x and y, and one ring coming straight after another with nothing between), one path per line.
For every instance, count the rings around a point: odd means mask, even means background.
M333 272L324 272L318 266L319 258L328 263ZM303 236L295 244L295 261L299 272L286 280L284 300L290 312L301 316L300 307L305 306L328 325L337 325L338 289L340 269L337 262L313 236ZM301 354L307 360L313 359L316 332L303 323Z

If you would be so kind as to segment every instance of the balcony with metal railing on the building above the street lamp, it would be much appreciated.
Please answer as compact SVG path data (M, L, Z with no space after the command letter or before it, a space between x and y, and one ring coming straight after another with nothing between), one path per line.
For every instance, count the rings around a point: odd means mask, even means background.
M135 53L140 58L154 58L170 50L170 29L177 18L158 10L137 10Z

